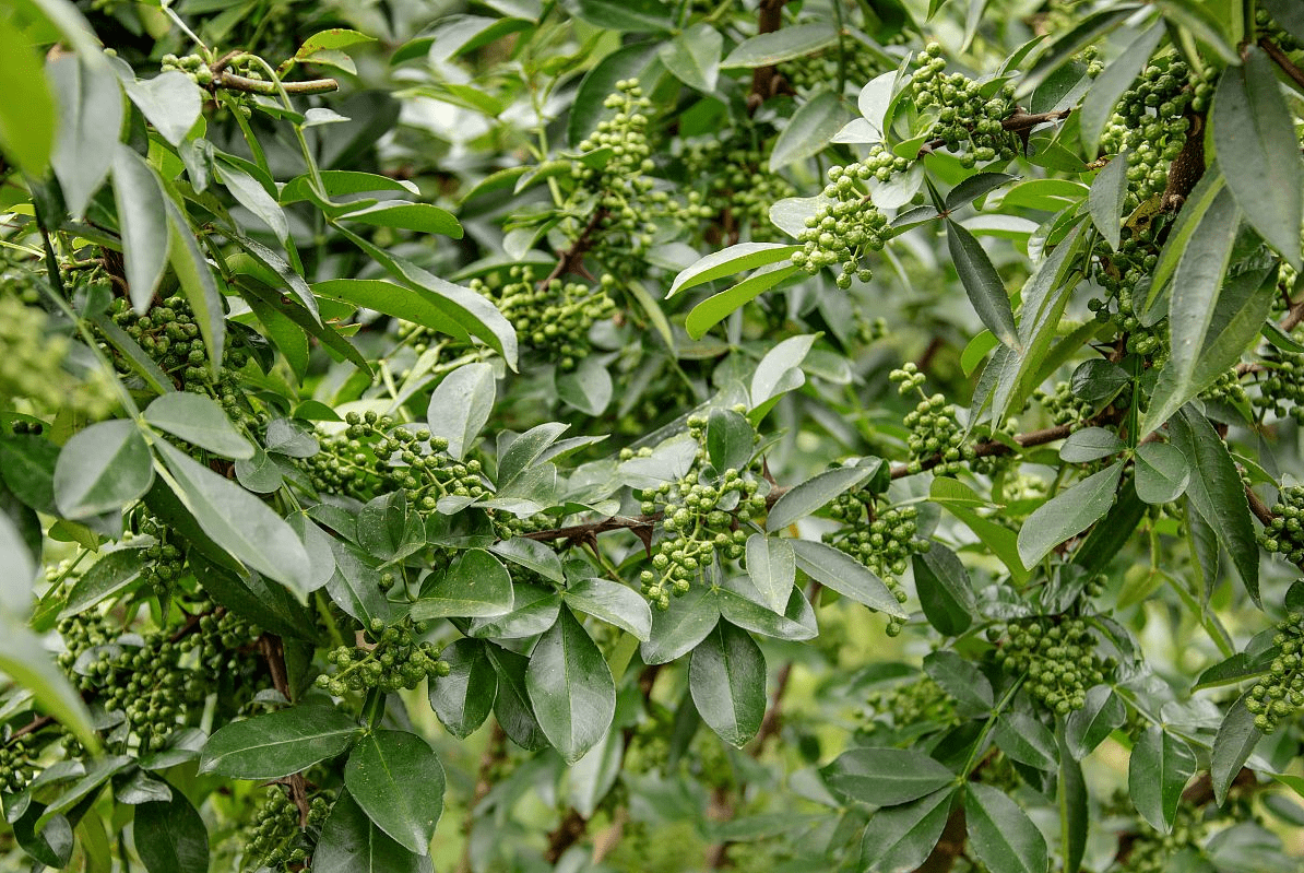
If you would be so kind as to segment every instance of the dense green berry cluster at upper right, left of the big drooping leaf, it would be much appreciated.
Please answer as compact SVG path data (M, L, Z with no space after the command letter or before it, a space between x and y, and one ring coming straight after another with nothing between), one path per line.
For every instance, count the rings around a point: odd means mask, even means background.
M1124 91L1101 136L1101 150L1129 151L1125 210L1163 193L1191 132L1191 114L1205 112L1211 97L1213 82L1193 74L1176 54L1154 57Z

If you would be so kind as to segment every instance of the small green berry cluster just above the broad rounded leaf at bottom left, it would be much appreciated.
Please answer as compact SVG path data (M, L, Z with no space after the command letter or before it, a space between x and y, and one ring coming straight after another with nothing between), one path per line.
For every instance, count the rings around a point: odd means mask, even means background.
M383 621L374 619L368 630L370 642L326 652L326 660L338 669L334 675L319 675L317 688L335 697L373 688L393 693L416 688L426 677L434 680L449 675L449 663L439 660L439 649L417 639L411 622L386 628Z

